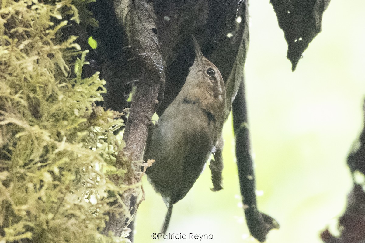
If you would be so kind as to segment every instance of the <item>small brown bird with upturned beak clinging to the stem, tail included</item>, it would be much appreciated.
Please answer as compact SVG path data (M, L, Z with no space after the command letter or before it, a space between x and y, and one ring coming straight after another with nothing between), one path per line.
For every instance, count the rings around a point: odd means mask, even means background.
M161 232L169 225L173 204L192 188L214 151L226 91L218 68L201 53L193 37L195 60L180 93L158 119L146 147L145 160L155 162L146 171L168 212Z

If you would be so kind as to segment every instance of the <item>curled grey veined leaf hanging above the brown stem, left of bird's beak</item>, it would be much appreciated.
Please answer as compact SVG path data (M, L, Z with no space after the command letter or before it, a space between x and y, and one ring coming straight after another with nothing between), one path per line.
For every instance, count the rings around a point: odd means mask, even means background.
M157 39L157 17L150 0L116 0L116 13L124 23L132 51L142 65L150 71L162 74L164 65L160 43ZM127 6L127 7L126 7ZM129 9L126 11L126 8ZM125 16L125 17L124 17Z

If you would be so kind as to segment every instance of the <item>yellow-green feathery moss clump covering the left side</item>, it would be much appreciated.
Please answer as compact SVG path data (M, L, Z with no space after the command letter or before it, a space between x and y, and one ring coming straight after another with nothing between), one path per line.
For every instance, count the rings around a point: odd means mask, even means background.
M113 135L123 121L94 105L104 81L81 77L87 51L61 35L97 25L90 1L46 2L1 1L0 243L123 242L98 233L103 213L129 213L107 204L131 187Z

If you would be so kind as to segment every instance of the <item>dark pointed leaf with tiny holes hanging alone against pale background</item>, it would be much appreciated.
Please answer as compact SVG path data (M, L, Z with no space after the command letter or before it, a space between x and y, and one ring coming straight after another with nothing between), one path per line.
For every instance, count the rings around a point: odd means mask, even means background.
M287 58L295 70L303 51L321 31L322 15L330 0L270 0L288 43Z

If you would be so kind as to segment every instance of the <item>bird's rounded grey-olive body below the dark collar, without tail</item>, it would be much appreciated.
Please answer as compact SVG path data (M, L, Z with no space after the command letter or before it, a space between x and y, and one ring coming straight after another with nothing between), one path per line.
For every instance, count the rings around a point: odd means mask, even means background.
M155 191L165 202L174 204L189 192L199 177L213 142L201 109L181 105L170 112L160 118L145 159L155 160L146 171Z

